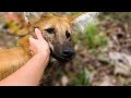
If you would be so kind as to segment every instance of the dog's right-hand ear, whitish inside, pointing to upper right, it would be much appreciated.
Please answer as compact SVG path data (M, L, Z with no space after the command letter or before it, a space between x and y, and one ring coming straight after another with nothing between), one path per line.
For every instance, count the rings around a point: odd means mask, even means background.
M90 24L95 22L98 12L85 12L78 15L69 16L69 21L71 22L73 32L84 33Z

